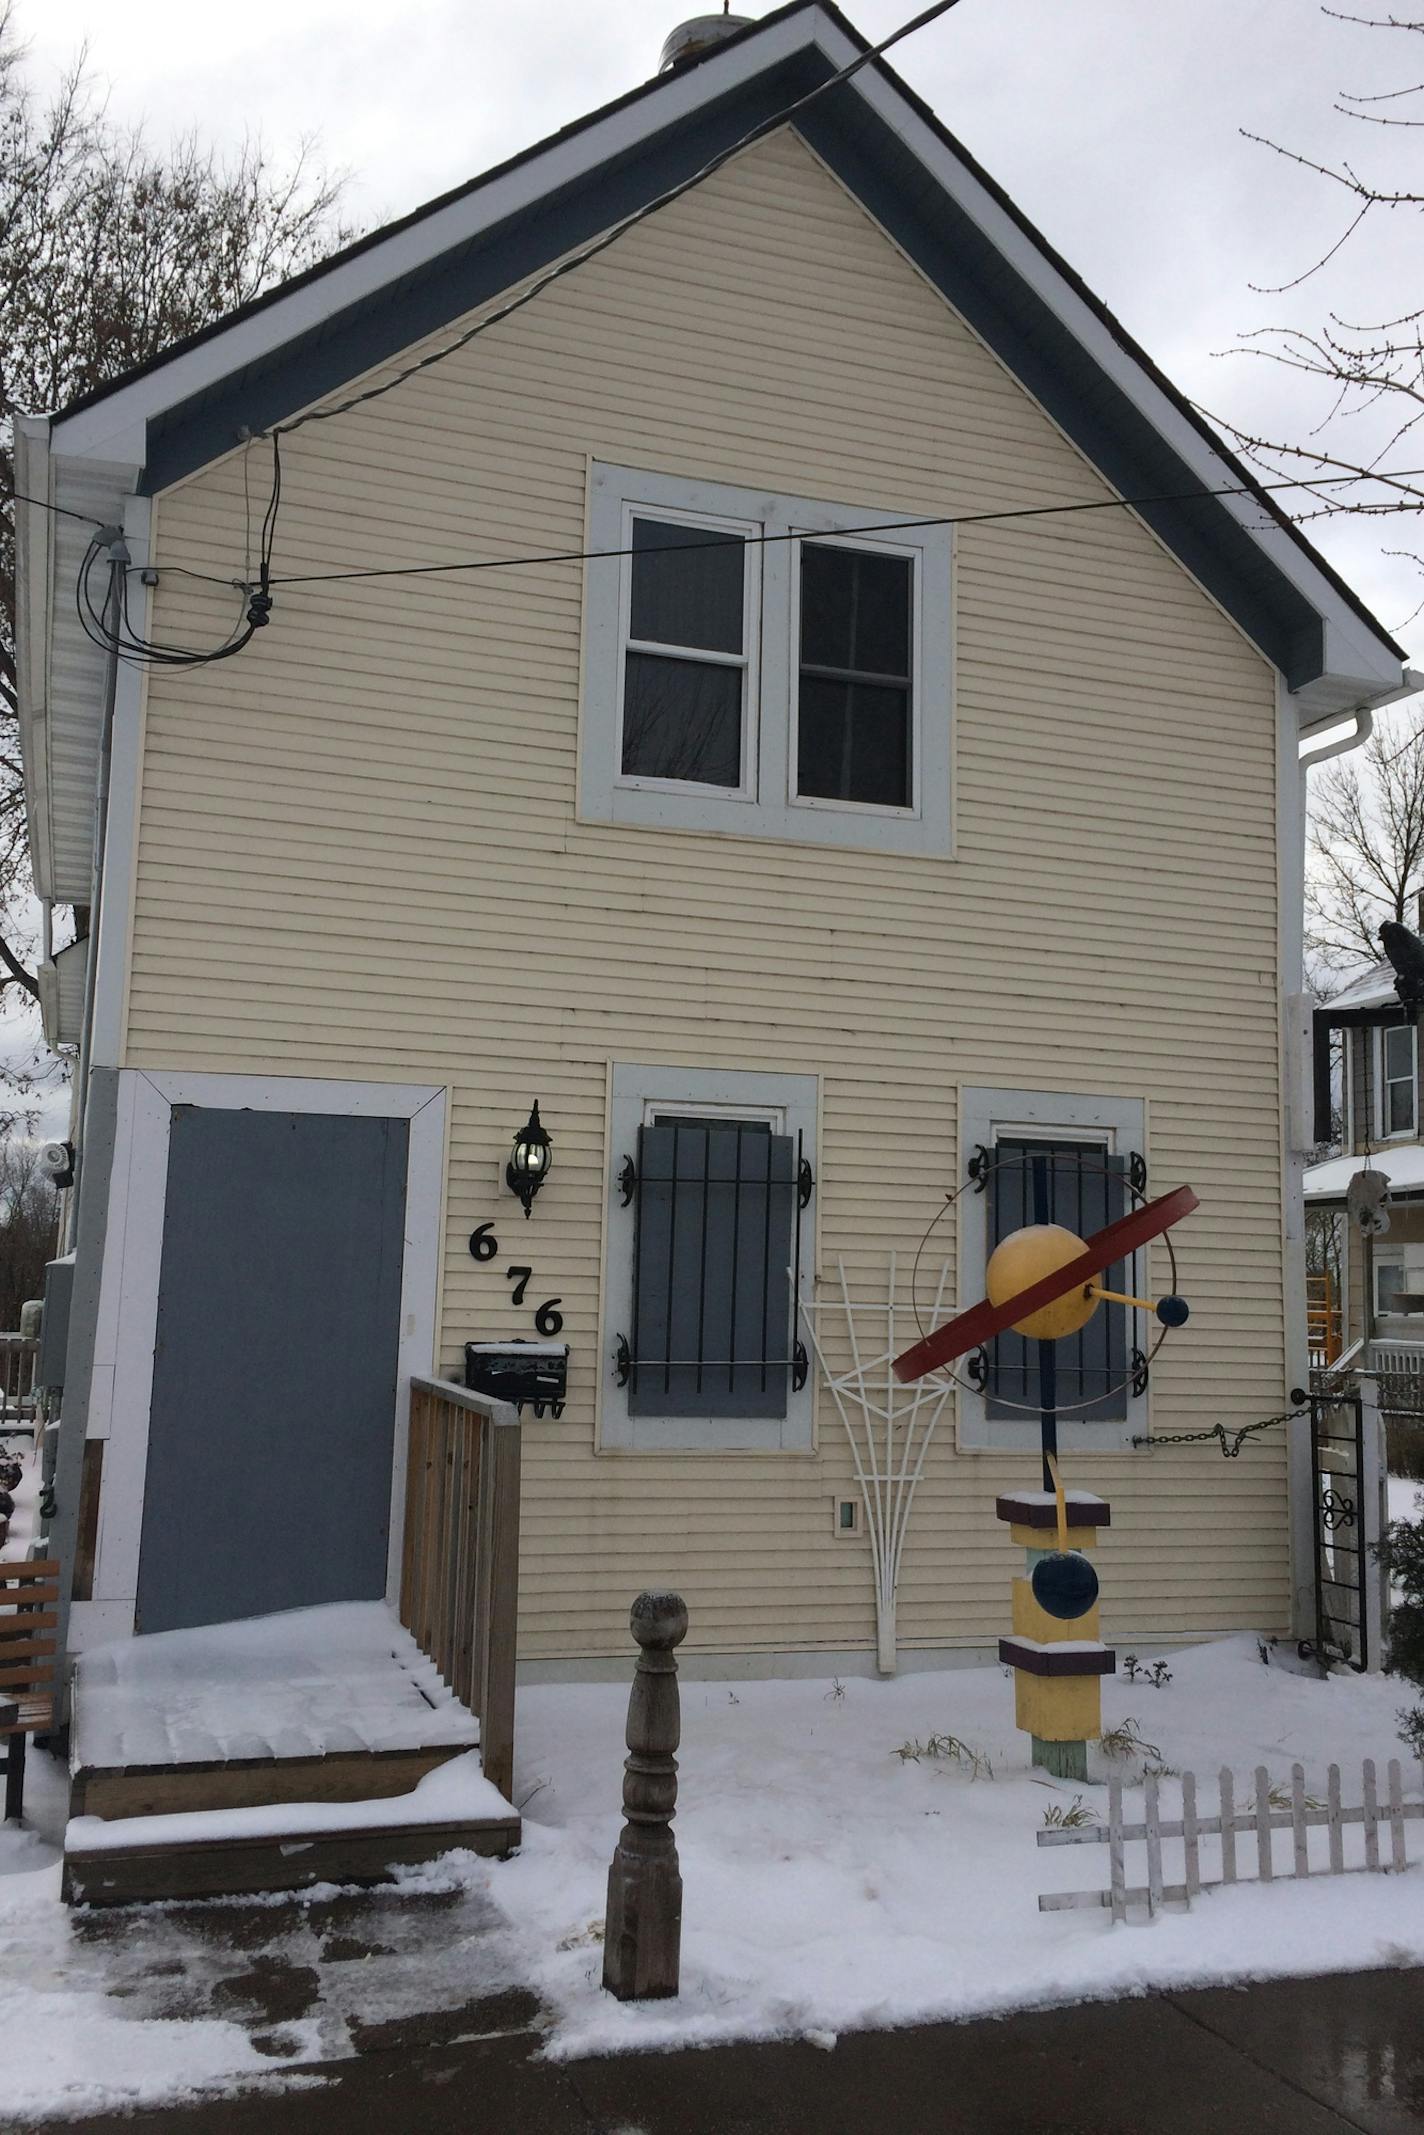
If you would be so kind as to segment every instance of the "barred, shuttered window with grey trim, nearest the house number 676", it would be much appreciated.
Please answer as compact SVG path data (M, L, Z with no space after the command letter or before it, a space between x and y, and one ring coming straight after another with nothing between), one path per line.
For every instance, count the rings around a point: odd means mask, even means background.
M613 1070L608 1450L809 1450L816 1076Z

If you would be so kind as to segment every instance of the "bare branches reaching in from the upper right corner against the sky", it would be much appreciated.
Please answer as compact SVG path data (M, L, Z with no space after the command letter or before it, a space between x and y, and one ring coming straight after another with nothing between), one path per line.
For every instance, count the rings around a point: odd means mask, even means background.
M1424 19L1354 15L1330 6L1322 13L1341 23L1386 32L1383 49L1398 68L1398 85L1343 90L1334 111L1360 128L1375 128L1373 145L1388 143L1396 154L1415 149L1424 132ZM1415 49L1407 51L1398 38L1413 38ZM1413 179L1405 173L1401 184L1392 184L1366 173L1349 156L1326 160L1262 135L1247 132L1247 139L1311 171L1341 201L1341 222L1311 265L1260 295L1279 297L1315 284L1362 231L1424 211L1424 175ZM1420 239L1424 250L1424 231ZM1300 483L1300 504L1292 508L1292 517L1300 523L1341 515L1398 521L1403 547L1386 549L1386 555L1409 557L1424 572L1424 542L1418 534L1424 510L1424 480L1418 472L1424 463L1424 275L1401 292L1398 307L1386 318L1345 318L1326 310L1324 318L1309 325L1257 327L1223 354L1249 354L1319 384L1317 421L1304 438L1264 436L1213 416L1262 472ZM1413 472L1392 472L1401 465Z

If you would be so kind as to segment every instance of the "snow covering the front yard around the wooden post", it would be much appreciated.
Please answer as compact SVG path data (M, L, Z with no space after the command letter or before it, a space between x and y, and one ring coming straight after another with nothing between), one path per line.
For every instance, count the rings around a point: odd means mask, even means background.
M1405 1687L1349 1674L1322 1682L1289 1661L1285 1648L1262 1665L1253 1638L1174 1652L1161 1689L1104 1685L1104 1723L1134 1719L1157 1761L1178 1770L1230 1764L1245 1793L1257 1764L1287 1781L1296 1759L1324 1793L1334 1759L1358 1798L1360 1759L1401 1753ZM623 1714L615 1685L521 1693L523 1853L504 1864L450 1855L414 1875L412 1894L444 1892L429 1930L418 1907L404 1941L382 1915L374 1954L342 1964L316 1932L322 1894L273 1904L260 1962L299 1962L316 1979L299 2018L275 2028L213 2013L233 2007L220 1992L224 1962L228 1975L252 1966L252 1909L143 1909L124 1932L113 1915L64 1913L53 1845L62 1800L36 1759L32 1808L45 1836L0 1836L6 2101L30 2114L83 2112L273 2077L273 2052L335 2058L352 2052L359 2026L457 2007L510 1981L544 2003L547 2050L576 2056L775 2033L828 2039L1168 1983L1424 1962L1424 1864L1407 1877L1206 1894L1151 1926L1040 1915L1040 1889L1106 1877L1106 1849L1035 1847L1044 1810L1074 1793L1102 1804L1104 1789L1029 1770L997 1665L892 1682L683 1682L683 1992L623 2007L600 1990L598 1945ZM993 1776L899 1755L946 1734L988 1759ZM1097 1770L1108 1768L1099 1757ZM1418 1798L1418 1772L1407 1772ZM1174 1798L1170 1781L1164 1793ZM1411 1823L1413 1855L1422 1836ZM346 1907L346 1941L361 1909L378 1904ZM231 1951L224 1919L243 1921ZM186 1975L177 1996L175 1968Z

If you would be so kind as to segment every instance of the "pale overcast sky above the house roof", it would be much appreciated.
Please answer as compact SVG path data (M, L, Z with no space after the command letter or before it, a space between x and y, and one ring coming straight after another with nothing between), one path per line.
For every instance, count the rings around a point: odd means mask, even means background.
M916 4L854 0L848 13L875 41ZM1368 0L1356 4L1368 13ZM346 211L361 226L647 79L683 13L696 6L17 4L41 81L58 79L88 45L111 115L143 120L154 139L192 128L235 145L254 132L290 149L314 135L327 164L348 173ZM741 13L771 9L743 0ZM1377 13L1388 13L1383 0ZM1183 391L1289 436L1324 416L1326 401L1275 365L1215 352L1251 327L1315 327L1330 310L1377 320L1420 301L1420 211L1381 216L1324 275L1289 295L1260 295L1251 284L1289 282L1334 243L1349 203L1243 130L1326 162L1354 156L1381 184L1424 192L1424 130L1383 130L1332 109L1341 90L1422 81L1422 60L1424 38L1343 23L1315 0L961 0L892 53ZM1368 421L1332 433L1349 457L1371 436ZM1394 465L1424 465L1424 438ZM1383 555L1407 529L1368 521L1311 534L1424 664L1424 623L1407 626L1420 574Z

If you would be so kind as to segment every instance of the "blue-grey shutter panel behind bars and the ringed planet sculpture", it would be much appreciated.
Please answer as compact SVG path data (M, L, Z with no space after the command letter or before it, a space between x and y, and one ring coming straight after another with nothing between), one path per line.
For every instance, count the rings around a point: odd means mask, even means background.
M1001 1140L988 1181L988 1249L1023 1223L1042 1221L1035 1168L1042 1168L1048 1221L1080 1238L1127 1213L1127 1157L1108 1155L1097 1142ZM1018 1161L1023 1159L1023 1161ZM1099 1277L1106 1290L1132 1287L1132 1264L1117 1262ZM1055 1343L1059 1409L1072 1422L1121 1422L1127 1416L1127 1307L1099 1304L1089 1324ZM1035 1343L999 1334L988 1345L986 1413L995 1422L1038 1403ZM1016 1403L1016 1407L1010 1407Z

